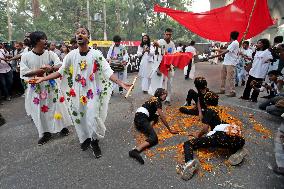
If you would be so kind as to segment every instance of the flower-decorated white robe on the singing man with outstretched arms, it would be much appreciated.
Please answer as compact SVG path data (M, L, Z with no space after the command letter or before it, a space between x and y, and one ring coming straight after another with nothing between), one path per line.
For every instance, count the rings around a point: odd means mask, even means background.
M81 69L80 63L84 61L86 68ZM95 64L98 70L93 69ZM66 92L69 96L72 120L75 123L80 143L87 138L103 138L106 131L104 122L112 92L112 83L109 78L113 71L109 63L98 50L90 49L86 56L81 56L79 49L75 49L65 56L58 72L73 83L71 88L64 86L67 83L62 83L61 88L69 88ZM78 79L79 75L81 79ZM85 86L82 85L82 78L85 78ZM75 96L70 95L70 89L75 91ZM88 91L91 91L93 95L90 95ZM87 98L86 104L80 101L82 97Z

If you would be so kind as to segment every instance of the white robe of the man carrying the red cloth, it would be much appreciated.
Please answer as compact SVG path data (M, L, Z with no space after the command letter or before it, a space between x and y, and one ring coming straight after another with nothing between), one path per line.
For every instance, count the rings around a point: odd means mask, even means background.
M157 88L164 88L168 92L166 101L170 101L171 96L172 96L172 87L173 87L172 83L173 83L173 77L174 77L173 66L172 66L172 70L169 71L168 76L165 76L164 74L159 76L157 74L157 71L159 71L159 66L163 59L163 55L166 52L175 53L175 44L172 41L170 41L170 43L167 43L164 39L158 40L158 44L161 48L159 48L158 50L159 54L154 56L154 65L153 65L153 69L151 72L151 84L150 84L148 93L150 95L154 95Z

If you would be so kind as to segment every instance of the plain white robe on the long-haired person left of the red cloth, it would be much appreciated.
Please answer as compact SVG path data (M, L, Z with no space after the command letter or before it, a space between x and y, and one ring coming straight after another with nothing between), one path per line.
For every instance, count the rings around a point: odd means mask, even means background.
M151 81L151 72L153 69L153 56L155 49L153 46L150 47L150 52L145 52L143 54L143 47L138 46L137 55L141 57L139 73L141 77L142 91L148 91L150 81Z

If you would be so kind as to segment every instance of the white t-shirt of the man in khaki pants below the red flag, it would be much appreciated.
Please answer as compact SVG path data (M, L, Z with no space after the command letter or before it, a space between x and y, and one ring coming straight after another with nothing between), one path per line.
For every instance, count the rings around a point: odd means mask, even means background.
M238 63L239 42L233 41L227 48L229 52L225 54L223 65L236 66Z

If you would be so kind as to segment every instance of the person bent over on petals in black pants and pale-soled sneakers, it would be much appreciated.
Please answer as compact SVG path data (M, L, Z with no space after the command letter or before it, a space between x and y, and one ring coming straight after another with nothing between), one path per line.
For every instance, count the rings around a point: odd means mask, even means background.
M235 166L243 161L247 150L243 148L245 139L241 136L241 129L235 124L217 125L206 136L188 140L184 143L185 164L177 165L176 171L183 180L189 180L199 168L199 161L193 157L193 151L200 148L225 148L232 151L228 162Z

